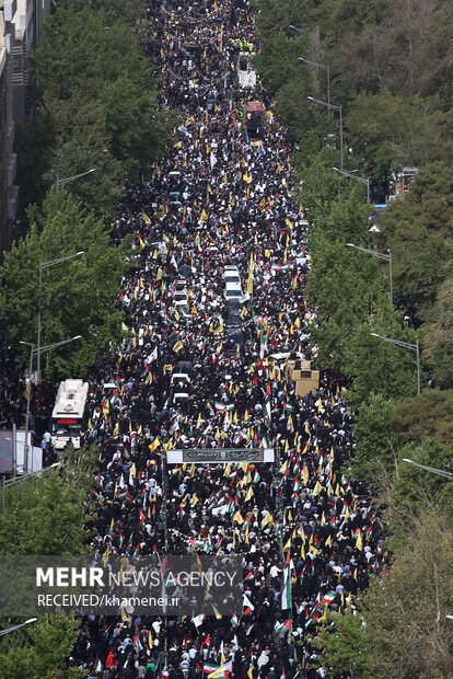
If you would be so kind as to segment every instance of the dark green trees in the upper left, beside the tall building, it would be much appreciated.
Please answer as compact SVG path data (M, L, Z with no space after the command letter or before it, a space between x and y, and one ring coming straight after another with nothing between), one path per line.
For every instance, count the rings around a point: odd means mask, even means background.
M22 205L40 204L58 177L97 216L117 204L120 179L160 156L177 122L158 112L152 64L133 30L142 3L59 2L30 59L38 112L19 130Z

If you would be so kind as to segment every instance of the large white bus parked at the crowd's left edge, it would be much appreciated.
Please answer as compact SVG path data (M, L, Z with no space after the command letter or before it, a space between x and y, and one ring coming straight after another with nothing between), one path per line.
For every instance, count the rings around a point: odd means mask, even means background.
M80 437L85 428L85 403L89 383L83 380L65 380L58 387L51 413L51 445L63 450L68 444L80 448Z

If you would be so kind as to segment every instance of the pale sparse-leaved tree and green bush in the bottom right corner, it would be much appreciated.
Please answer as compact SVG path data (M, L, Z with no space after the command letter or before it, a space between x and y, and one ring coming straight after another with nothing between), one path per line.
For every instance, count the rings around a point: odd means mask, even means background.
M358 615L330 617L316 637L327 677L448 677L453 671L453 529L438 511L415 521L384 575L372 579ZM365 628L362 619L365 617Z

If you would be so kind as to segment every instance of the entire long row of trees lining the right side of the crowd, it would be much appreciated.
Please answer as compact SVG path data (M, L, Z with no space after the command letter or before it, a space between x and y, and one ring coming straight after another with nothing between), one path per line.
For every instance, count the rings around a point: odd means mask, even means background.
M323 313L312 343L323 367L351 378L346 398L356 456L344 473L373 494L392 554L392 567L372 578L357 614L330 615L315 646L328 677L351 670L363 678L446 677L453 674L446 618L453 613L453 483L404 460L451 471L452 7L442 0L256 5L256 65L299 149L311 225L306 291ZM327 102L326 69L298 57L330 66L347 171L384 181L404 165L420 166L409 192L378 219L370 220L365 187L333 170L339 166L329 135L338 130L336 111L329 123L327 108L306 99ZM390 300L388 265L348 243L391 249L398 304ZM420 395L415 354L371 333L419 341Z

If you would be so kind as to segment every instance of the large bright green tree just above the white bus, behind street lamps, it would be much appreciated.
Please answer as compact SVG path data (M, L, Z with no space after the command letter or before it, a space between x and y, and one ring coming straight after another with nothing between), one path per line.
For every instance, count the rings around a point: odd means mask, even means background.
M2 275L1 304L15 342L36 343L39 262L84 254L43 271L42 346L82 335L51 350L48 373L83 377L119 338L121 317L112 308L126 267L127 241L108 246L104 223L63 188L51 192L43 211L32 215L27 235L13 244Z

